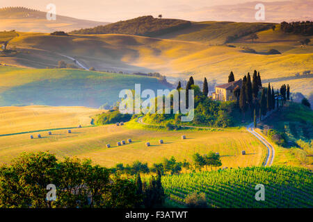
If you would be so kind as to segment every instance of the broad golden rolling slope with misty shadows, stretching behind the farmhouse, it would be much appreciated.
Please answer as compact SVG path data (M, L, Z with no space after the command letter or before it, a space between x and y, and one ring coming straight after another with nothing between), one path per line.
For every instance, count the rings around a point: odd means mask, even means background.
M235 78L241 78L248 71L257 69L262 78L294 76L298 72L313 69L313 46L301 47L301 35L284 34L279 27L258 32L259 39L252 43L247 37L236 40L235 47L208 45L203 42L166 40L133 35L72 35L50 36L45 34L21 33L10 41L13 46L28 48L31 53L21 53L23 65L30 66L42 56L49 57L49 64L55 65L65 54L86 63L88 67L115 71L159 71L168 76L196 79L216 78L219 83L227 80L230 71ZM243 49L255 49L249 53ZM277 49L282 54L268 55L266 51ZM1 58L1 60L4 58ZM42 65L44 60L40 60ZM41 66L42 66L41 65Z

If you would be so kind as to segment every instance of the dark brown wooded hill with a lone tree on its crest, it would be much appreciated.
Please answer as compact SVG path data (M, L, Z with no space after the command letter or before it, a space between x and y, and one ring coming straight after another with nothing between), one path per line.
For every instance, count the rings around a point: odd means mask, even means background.
M155 19L151 15L126 21L115 22L106 26L85 28L72 31L72 34L127 34L153 37L191 26L191 22L180 19Z

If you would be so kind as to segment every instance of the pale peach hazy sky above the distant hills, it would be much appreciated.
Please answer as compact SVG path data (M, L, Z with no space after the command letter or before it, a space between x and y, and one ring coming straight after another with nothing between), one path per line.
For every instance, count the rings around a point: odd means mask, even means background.
M10 0L1 1L0 7L24 6L47 11L49 3L56 5L56 14L102 22L117 22L141 15L162 14L167 18L184 19L183 12L198 8L244 3L249 0ZM252 0L250 0L252 1ZM286 0L262 0L286 1Z

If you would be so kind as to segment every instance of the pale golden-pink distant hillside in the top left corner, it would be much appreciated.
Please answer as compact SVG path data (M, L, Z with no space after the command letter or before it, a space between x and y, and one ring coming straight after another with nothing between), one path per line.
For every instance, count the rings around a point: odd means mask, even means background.
M56 15L55 21L46 18L47 12L24 7L0 8L0 31L22 31L51 33L54 31L72 31L78 28L106 25L108 22L94 22Z

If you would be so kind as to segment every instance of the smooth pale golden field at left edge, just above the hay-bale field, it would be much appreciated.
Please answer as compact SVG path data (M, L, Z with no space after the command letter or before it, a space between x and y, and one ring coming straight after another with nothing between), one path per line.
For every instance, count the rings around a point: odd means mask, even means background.
M90 126L91 117L103 110L84 107L31 105L0 107L0 135L34 130Z

